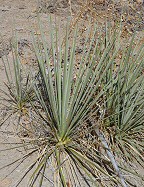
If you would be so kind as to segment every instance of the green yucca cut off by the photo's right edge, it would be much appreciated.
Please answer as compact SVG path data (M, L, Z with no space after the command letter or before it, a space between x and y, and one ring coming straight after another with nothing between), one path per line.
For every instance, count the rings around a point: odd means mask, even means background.
M115 154L143 166L144 45L134 39L125 44L121 59L105 77L106 84L112 79L113 83L106 94L104 123Z

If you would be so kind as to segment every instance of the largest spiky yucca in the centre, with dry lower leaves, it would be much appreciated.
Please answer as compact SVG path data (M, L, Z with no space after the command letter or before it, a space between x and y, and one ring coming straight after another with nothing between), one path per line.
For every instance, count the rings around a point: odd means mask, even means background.
M39 186L42 186L43 179L49 182L48 163L51 159L55 163L54 173L59 176L55 180L56 186L98 186L106 185L107 180L111 185L126 186L110 150L108 156L105 153L108 144L99 130L103 99L112 80L103 87L101 83L118 53L117 48L108 62L119 34L115 31L107 47L101 50L104 40L101 34L97 37L98 28L96 25L94 29L88 28L83 54L77 62L77 27L71 40L67 25L63 49L59 29L53 29L50 21L50 51L41 22L39 27L41 40L33 35L39 67L34 87L38 104L33 106L47 135L42 138L43 149L40 148L37 161L28 168L31 170L37 164L29 186L33 186L39 177ZM41 43L43 50L39 48ZM104 148L100 140L104 142Z

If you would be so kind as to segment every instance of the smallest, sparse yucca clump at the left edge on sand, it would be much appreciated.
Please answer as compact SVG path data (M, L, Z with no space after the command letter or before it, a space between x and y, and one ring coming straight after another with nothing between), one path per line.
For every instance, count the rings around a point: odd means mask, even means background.
M4 82L5 89L0 89L0 100L7 114L1 119L0 126L10 117L17 119L20 123L21 117L28 114L31 108L30 101L33 101L35 97L30 74L28 71L26 73L21 63L16 36L11 45L12 61L7 55L2 57L7 81Z

